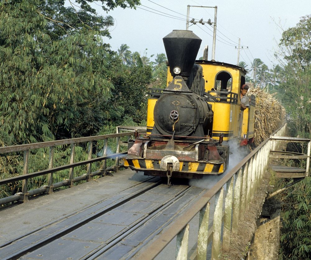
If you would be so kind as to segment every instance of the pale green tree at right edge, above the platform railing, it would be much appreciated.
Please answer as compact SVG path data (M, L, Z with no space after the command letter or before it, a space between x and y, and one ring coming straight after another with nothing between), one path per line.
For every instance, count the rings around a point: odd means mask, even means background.
M295 121L300 137L311 135L311 15L302 17L296 27L283 32L280 53L284 61L281 99Z

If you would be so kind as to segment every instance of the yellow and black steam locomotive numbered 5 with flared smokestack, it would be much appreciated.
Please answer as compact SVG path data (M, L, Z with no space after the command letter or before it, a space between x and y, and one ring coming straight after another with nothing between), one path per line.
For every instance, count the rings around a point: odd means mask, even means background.
M221 174L229 163L228 142L253 142L255 98L240 109L244 68L195 60L201 39L173 30L163 38L169 62L167 87L148 100L147 132L128 143L124 165L145 175L201 178Z

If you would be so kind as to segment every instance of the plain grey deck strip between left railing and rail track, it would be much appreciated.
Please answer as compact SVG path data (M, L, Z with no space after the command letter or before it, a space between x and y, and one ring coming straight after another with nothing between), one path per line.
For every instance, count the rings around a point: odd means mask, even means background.
M0 211L0 246L130 188L150 177L127 169Z

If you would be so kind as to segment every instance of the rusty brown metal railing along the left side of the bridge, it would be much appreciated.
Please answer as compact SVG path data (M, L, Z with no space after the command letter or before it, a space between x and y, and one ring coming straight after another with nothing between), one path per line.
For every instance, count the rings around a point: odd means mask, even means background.
M146 131L138 131L139 133L145 133ZM94 176L101 175L104 176L107 171L117 171L120 166L119 165L119 157L126 154L125 152L120 151L120 143L121 137L130 137L133 136L134 132L123 132L117 134L109 134L109 135L100 135L100 136L93 136L93 137L82 137L82 138L73 138L73 139L66 139L66 140L58 140L58 141L51 141L51 142L41 142L41 143L34 143L34 144L24 144L24 145L16 145L16 146L5 146L0 147L0 156L3 154L8 154L12 152L17 153L24 153L24 165L23 165L23 172L21 175L14 176L7 179L0 179L0 187L2 185L8 183L14 183L17 181L22 181L22 189L21 192L16 193L15 195L1 198L0 199L0 206L6 203L14 202L14 201L21 201L25 202L28 200L28 197L33 195L38 195L41 193L53 193L53 189L60 188L63 186L72 187L74 183L82 180L89 181ZM116 153L107 156L107 149L108 149L108 139L109 138L116 138L117 146L116 146ZM103 156L92 158L93 152L93 143L99 140L104 140L104 147L103 147ZM88 159L85 161L75 162L75 148L78 143L88 143L85 145L88 147ZM71 152L68 158L69 164L61 165L58 167L54 167L54 147L61 146L61 145L70 145ZM40 170L37 172L29 172L29 160L31 156L31 150L38 149L38 148L46 148L49 147L49 165L47 169ZM94 156L93 156L94 157ZM109 158L116 158L115 165L109 168L106 168L106 161ZM91 172L91 164L94 162L102 161L100 169ZM77 166L86 165L86 174L79 175L74 177L74 169ZM68 179L65 179L58 183L53 183L53 174L64 170L69 169ZM47 178L47 185L42 187L28 190L28 181L37 176L46 175Z

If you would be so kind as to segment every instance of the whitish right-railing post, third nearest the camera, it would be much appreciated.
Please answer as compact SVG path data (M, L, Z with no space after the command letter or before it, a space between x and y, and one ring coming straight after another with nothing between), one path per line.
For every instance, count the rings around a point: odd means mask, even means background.
M215 194L215 211L213 218L213 242L211 259L219 259L222 221L222 202L224 198L224 187Z

